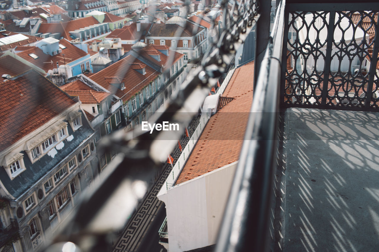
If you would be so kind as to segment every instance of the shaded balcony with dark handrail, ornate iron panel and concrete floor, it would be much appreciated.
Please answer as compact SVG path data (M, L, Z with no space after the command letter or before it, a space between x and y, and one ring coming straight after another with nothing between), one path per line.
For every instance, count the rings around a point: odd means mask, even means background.
M216 251L378 245L378 11L280 1Z

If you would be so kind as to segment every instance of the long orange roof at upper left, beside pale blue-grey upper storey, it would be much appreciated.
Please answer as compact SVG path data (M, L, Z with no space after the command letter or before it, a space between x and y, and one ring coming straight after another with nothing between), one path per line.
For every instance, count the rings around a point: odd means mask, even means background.
M39 26L39 33L61 33L61 36L65 39L72 40L69 31L78 30L86 26L99 23L94 17L82 17L80 19L74 19L68 22L61 23L41 23Z

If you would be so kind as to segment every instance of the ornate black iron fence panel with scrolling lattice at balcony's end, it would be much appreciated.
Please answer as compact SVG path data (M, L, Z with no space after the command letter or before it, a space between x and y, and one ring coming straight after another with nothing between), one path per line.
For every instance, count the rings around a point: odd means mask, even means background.
M378 108L378 11L287 9L285 18L284 106Z

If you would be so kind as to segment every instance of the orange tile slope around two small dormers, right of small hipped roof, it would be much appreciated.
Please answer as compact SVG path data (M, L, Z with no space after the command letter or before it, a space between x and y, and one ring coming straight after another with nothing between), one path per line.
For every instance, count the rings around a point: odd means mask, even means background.
M135 93L141 91L144 87L146 87L151 81L158 77L160 74L158 71L149 67L148 65L145 67L146 74L143 75L136 70L129 67L130 63L141 63L132 55L121 59L110 65L109 67L100 70L94 75L89 76L92 81L95 81L97 84L101 85L105 89L114 93L114 95L122 98L123 101L127 101L132 98ZM109 78L120 78L124 80L125 89L121 90L116 88L115 86L109 84L105 79L105 76L111 76Z

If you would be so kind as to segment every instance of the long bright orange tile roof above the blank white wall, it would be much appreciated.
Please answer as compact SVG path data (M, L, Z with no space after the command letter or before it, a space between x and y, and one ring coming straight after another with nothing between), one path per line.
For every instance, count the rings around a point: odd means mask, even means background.
M236 162L253 99L254 62L237 68L222 96L234 99L212 115L175 184Z

